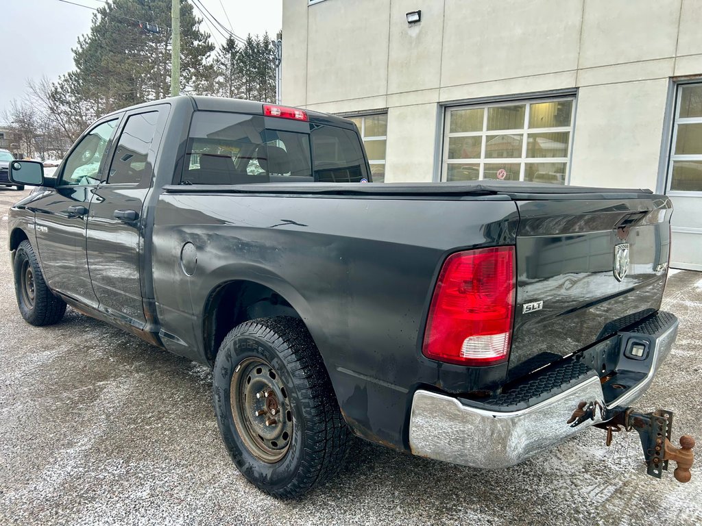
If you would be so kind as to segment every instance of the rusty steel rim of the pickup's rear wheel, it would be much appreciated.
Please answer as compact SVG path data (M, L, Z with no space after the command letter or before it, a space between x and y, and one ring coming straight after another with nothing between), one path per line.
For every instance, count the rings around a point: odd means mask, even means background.
M246 449L274 464L285 457L293 436L289 393L280 375L263 358L245 358L230 384L232 417Z

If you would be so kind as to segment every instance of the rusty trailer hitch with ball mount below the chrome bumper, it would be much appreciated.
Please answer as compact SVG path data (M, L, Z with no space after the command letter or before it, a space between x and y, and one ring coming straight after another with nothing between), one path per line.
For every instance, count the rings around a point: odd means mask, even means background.
M611 444L612 433L617 431L636 431L641 439L648 474L661 478L663 471L668 471L668 461L677 463L673 476L680 483L690 480L690 468L694 461L692 448L695 440L689 435L680 437L680 448L670 442L673 433L673 412L656 410L650 413L635 412L633 407L616 412L615 416L598 426L607 429L607 445Z

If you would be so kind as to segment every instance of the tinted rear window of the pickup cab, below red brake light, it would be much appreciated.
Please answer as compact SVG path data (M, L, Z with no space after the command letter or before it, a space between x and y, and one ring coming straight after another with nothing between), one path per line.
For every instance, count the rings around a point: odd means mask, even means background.
M269 119L270 120L270 119ZM195 112L187 141L184 184L369 180L361 142L352 130L262 116Z

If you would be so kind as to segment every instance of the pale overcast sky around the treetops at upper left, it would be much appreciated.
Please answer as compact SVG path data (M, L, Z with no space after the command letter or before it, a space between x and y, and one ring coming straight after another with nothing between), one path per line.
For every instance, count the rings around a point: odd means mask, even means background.
M104 0L68 0L93 8ZM246 37L247 34L270 36L282 27L283 0L199 0L225 27ZM192 4L192 2L191 2ZM91 27L92 9L74 6L60 0L0 0L0 114L13 99L25 93L27 79L49 79L73 69L71 48L78 36ZM195 9L195 14L202 15ZM227 22L227 16L230 22ZM14 21L14 22L11 22ZM201 29L215 33L216 45L223 42L215 29L201 24Z

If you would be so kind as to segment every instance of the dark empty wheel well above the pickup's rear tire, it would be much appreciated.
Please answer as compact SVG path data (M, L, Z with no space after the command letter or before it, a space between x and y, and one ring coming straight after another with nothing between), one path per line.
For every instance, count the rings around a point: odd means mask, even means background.
M240 323L270 316L301 318L282 295L253 281L221 285L211 295L205 313L205 351L212 363L225 336Z

